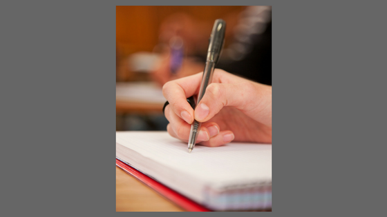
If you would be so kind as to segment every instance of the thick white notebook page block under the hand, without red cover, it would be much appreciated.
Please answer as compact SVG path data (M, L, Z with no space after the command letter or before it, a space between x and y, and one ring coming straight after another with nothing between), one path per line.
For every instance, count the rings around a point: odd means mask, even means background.
M167 132L116 132L116 157L211 210L272 207L272 145L187 144Z

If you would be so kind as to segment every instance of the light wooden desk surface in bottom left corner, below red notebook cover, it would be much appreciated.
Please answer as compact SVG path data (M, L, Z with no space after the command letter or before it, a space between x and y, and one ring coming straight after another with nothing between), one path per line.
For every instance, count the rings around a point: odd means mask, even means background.
M185 211L142 184L124 170L115 169L115 211Z

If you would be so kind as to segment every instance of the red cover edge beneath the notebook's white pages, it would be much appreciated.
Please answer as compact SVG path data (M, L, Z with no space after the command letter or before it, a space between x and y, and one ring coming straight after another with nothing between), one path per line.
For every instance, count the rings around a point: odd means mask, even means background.
M187 211L211 211L203 207L202 205L194 202L193 200L182 196L178 192L175 192L174 190L170 189L169 187L162 185L158 181L154 180L153 178L150 178L142 172L139 172L137 169L134 169L126 163L123 163L117 158L115 159L115 165L123 169L126 173L131 174L131 176L137 178L145 185L151 187L151 189L155 190L155 192L158 192L165 198L171 200L173 203L176 203L176 205L182 207L182 209L185 209Z

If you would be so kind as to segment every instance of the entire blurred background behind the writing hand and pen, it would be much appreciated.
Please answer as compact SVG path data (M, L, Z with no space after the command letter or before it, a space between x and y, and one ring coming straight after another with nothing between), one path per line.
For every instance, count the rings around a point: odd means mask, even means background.
M227 23L216 68L272 85L271 6L116 6L116 130L167 130L162 85L202 72L212 26Z

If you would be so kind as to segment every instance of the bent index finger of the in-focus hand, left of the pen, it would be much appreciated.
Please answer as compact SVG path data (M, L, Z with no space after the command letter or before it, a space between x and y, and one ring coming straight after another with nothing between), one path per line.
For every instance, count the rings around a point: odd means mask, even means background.
M191 124L193 122L193 108L187 98L198 94L202 72L186 76L181 79L168 81L162 86L162 94L172 106L171 109L177 116Z

